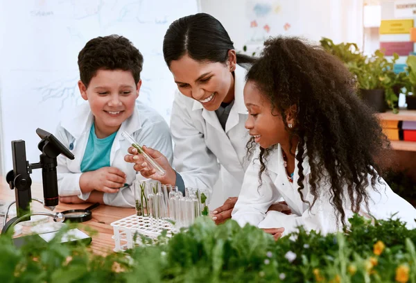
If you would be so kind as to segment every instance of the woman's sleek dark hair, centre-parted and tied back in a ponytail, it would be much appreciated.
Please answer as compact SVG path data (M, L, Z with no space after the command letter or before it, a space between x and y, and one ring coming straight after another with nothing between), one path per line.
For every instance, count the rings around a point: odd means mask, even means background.
M233 42L218 19L205 13L182 17L173 22L164 36L163 55L168 67L188 54L193 60L225 62ZM237 63L251 64L254 58L237 53Z

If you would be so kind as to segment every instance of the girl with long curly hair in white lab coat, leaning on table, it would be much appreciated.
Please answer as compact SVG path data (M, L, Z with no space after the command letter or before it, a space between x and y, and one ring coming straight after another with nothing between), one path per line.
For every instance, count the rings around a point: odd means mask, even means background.
M377 174L374 157L388 140L342 62L319 47L278 37L265 42L247 78L245 127L255 157L232 218L285 234L298 225L325 234L340 230L354 212L397 213L415 228L416 209ZM281 197L292 215L267 212Z

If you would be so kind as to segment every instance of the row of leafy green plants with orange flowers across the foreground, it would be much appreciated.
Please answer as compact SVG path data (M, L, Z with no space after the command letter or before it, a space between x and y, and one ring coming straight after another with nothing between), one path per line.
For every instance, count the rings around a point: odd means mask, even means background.
M154 246L94 255L81 244L12 246L1 235L1 282L416 282L416 230L355 215L345 233L277 242L254 226L198 218ZM163 239L162 239L163 238Z

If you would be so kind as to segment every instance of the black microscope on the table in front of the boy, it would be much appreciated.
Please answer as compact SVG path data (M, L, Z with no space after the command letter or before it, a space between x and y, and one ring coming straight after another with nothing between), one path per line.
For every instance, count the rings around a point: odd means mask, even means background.
M8 210L13 203L8 206L4 221L5 225L1 233L6 233L10 227L20 221L26 221L31 218L31 215L47 215L52 216L54 221L64 221L64 216L61 213L49 214L45 212L33 212L31 213L31 201L37 200L42 203L44 207L55 209L59 203L58 196L58 175L56 173L56 167L58 162L56 157L61 153L68 157L70 160L74 159L73 154L54 137L50 132L37 128L37 135L41 138L40 143L37 145L42 154L40 155L40 162L29 164L26 160L26 148L24 140L12 141L12 160L13 170L9 171L6 175L6 181L8 182L10 189L15 189L15 202L17 216L10 219L6 223ZM32 198L31 194L31 173L33 169L42 168L42 185L44 193L44 201Z

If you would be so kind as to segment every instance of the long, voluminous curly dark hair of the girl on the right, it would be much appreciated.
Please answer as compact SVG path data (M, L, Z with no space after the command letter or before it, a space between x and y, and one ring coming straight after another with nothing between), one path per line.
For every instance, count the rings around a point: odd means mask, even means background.
M336 216L345 223L343 202L345 196L352 203L352 211L358 212L365 201L368 207L368 175L374 188L380 181L377 165L383 148L389 141L383 135L374 113L356 95L352 74L338 58L297 37L276 37L264 43L261 57L247 74L263 96L278 112L289 132L290 148L293 138L298 140L297 180L298 193L304 203L304 168L308 157L311 167L309 185L315 204L321 191L321 180L331 185L330 203ZM286 110L296 105L293 128L286 123ZM254 149L251 139L249 153ZM273 148L260 148L259 182L266 169L266 162ZM345 191L347 187L347 191Z

